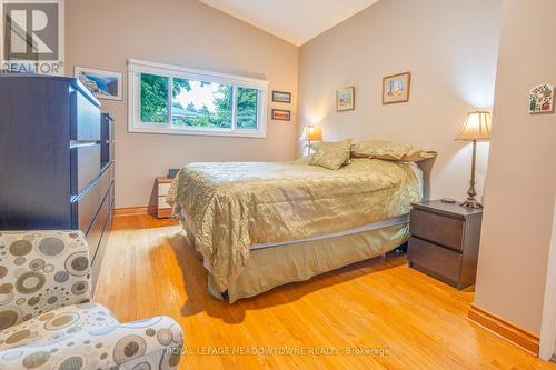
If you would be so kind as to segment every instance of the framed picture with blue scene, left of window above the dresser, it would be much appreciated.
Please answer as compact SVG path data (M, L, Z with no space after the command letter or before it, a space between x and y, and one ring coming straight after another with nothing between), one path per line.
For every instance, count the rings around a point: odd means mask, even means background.
M73 74L95 97L99 99L121 100L121 73L76 67Z

